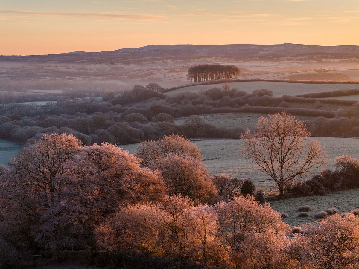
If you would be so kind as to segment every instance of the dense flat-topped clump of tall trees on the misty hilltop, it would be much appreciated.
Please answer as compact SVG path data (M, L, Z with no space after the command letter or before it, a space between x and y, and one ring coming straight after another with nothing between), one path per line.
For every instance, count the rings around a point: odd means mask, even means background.
M212 79L234 79L239 74L241 70L235 65L197 65L188 69L187 80L193 83Z

